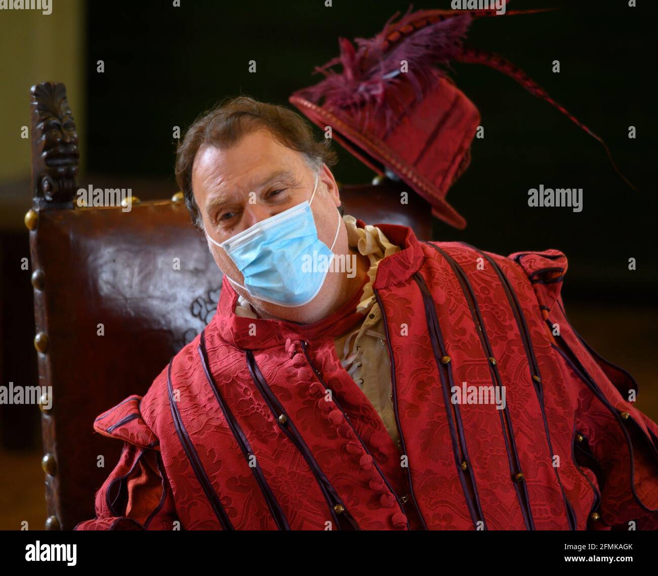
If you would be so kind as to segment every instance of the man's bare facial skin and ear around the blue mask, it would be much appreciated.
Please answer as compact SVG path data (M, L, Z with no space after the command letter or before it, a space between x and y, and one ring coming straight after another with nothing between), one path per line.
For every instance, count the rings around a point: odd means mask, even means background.
M192 170L192 188L203 228L216 242L224 242L257 222L310 200L314 184L315 172L303 155L280 144L264 129L246 134L228 149L199 149ZM336 234L339 205L336 180L323 165L311 209L318 238L327 246ZM342 236L343 232L339 240ZM243 276L226 252L214 244L209 246L222 272L243 284ZM249 298L240 288L236 290Z

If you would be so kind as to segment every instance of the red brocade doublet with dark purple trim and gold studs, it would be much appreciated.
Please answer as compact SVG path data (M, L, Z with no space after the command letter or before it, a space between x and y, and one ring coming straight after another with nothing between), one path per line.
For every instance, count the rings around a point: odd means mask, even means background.
M297 325L234 315L226 282L147 394L95 422L124 452L77 529L658 527L658 427L570 327L565 256L378 226L403 247L374 282L399 446L336 355L360 294ZM504 386L505 409L454 404L463 382Z

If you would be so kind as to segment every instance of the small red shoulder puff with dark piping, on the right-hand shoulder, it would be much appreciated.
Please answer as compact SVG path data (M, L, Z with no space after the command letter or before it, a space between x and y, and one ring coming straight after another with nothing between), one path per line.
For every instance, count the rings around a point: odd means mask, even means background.
M560 296L567 273L567 257L559 250L515 252L508 256L524 270L532 284L540 306L549 312Z

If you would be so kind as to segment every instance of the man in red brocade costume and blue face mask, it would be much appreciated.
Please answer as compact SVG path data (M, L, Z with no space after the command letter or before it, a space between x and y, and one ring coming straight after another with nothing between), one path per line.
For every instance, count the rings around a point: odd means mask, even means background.
M570 327L565 256L340 217L334 160L245 97L191 126L178 181L229 281L95 421L124 450L76 529L657 527L658 427Z

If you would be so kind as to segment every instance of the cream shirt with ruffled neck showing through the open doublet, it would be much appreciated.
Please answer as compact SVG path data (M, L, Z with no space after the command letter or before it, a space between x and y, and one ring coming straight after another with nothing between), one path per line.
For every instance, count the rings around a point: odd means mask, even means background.
M401 248L391 244L376 226L367 225L365 228L359 228L355 217L349 215L343 216L343 222L347 228L349 247L367 256L370 260L370 268L368 282L357 305L357 311L363 313L363 322L334 340L336 353L343 368L370 400L393 442L399 446L399 434L393 412L391 365L386 348L386 331L382 311L372 291L372 284L380 261ZM238 316L257 317L249 301L240 295L235 313Z

